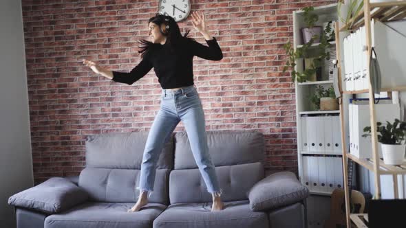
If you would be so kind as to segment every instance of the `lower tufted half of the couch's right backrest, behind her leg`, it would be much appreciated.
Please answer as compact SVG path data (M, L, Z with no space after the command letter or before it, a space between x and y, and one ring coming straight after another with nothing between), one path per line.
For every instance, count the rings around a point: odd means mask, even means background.
M247 200L247 193L257 181L264 178L262 163L248 163L215 168L222 188L222 201ZM198 169L172 170L169 175L169 201L173 203L211 202L212 196Z

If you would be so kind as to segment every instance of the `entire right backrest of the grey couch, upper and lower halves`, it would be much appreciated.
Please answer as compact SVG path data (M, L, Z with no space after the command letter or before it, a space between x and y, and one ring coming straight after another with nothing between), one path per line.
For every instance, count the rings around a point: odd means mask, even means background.
M222 200L248 199L250 187L265 176L264 135L246 130L207 130L206 133L209 153L223 190ZM169 201L171 204L211 202L185 131L175 135Z

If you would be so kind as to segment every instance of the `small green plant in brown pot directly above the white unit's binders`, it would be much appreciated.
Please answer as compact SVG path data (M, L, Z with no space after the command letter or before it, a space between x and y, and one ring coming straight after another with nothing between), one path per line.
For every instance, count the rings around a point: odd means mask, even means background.
M310 102L316 106L317 110L338 110L339 103L336 101L334 88L331 86L324 89L321 85L316 87L316 91L310 96Z

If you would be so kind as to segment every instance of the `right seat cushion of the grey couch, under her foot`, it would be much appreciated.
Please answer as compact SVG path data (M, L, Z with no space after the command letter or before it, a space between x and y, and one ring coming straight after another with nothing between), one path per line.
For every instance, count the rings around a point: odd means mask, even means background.
M251 211L248 201L226 202L220 212L211 212L211 203L174 204L153 221L153 227L264 228L268 227L268 216Z

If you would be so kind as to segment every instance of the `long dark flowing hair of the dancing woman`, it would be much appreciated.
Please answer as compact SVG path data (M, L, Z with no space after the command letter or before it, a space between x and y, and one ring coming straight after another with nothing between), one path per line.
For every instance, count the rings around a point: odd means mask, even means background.
M160 27L160 32L162 35L167 36L167 42L164 45L169 45L171 47L171 50L175 49L175 47L179 43L187 38L194 40L193 38L188 37L190 30L186 30L183 36L182 34L180 34L179 25L178 23L176 23L175 19L173 19L172 16L157 13L155 16L151 17L148 20L148 24L151 22ZM169 25L169 32L167 32L167 34L164 34L164 31L162 31L162 23L166 23L167 25ZM147 54L149 49L160 46L160 44L152 43L151 41L147 41L145 39L140 40L140 43L142 44L142 46L139 47L140 50L138 51L138 53L141 53L142 57Z

